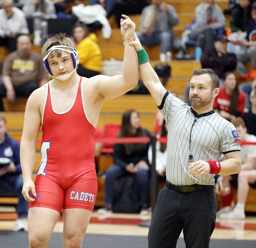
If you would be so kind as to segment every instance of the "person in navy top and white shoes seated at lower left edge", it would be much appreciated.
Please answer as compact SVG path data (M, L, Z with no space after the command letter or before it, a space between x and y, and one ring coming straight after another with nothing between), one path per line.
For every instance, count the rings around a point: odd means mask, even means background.
M0 193L19 197L14 231L27 230L28 201L21 194L23 179L20 174L20 144L7 134L6 120L0 115Z

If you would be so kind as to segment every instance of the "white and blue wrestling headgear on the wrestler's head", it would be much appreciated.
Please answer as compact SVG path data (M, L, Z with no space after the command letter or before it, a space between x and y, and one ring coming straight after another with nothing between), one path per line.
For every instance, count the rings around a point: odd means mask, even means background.
M71 50L69 50L69 49ZM73 64L74 64L74 70L67 73L67 74L64 74L64 75L60 75L58 77L55 77L61 81L65 81L67 80L73 73L74 71L78 68L78 65L79 65L79 56L78 56L78 53L76 51L76 48L75 47L68 47L68 46L52 46L44 55L43 57L43 64L44 64L44 68L52 75L52 72L51 72L51 69L50 69L50 66L49 66L49 63L47 61L47 57L50 55L50 53L54 50L61 50L61 51L64 51L64 52L68 52L68 53L71 53L71 57L72 57L72 60L73 60ZM52 77L54 77L52 75Z

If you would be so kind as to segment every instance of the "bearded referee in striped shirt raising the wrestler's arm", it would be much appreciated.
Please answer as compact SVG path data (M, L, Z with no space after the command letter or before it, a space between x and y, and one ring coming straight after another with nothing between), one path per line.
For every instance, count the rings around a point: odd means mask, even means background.
M168 124L167 180L152 215L148 247L176 247L183 229L187 248L207 248L216 220L213 177L241 169L236 128L212 107L219 78L211 69L194 70L190 107L164 89L136 35L130 45L138 51L142 81ZM222 154L226 160L220 163Z

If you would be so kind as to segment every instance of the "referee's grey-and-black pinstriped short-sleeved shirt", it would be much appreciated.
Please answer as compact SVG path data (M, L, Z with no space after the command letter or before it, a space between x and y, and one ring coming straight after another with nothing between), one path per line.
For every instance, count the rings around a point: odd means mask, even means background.
M211 111L198 115L168 92L158 106L168 124L166 179L175 185L214 185L214 174L196 178L189 173L189 135L193 162L217 160L222 154L240 150L239 135L228 120Z

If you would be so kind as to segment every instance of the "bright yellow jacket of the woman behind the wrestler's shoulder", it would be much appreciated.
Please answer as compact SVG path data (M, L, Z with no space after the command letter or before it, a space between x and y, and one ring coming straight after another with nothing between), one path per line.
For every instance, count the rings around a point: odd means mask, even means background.
M76 45L79 64L84 68L101 72L102 55L95 33L90 33Z

